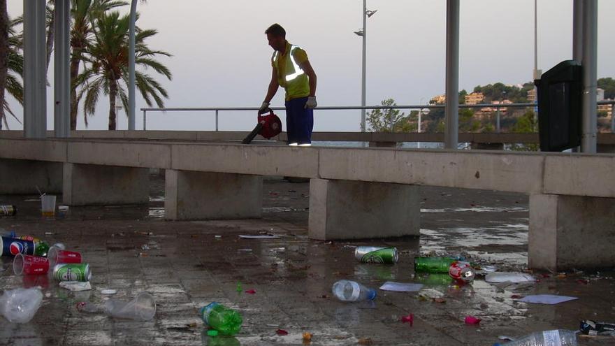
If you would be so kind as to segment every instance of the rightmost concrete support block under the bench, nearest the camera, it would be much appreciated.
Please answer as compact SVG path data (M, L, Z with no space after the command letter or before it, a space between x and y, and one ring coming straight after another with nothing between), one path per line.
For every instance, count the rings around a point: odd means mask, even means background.
M615 266L615 199L530 195L530 268Z

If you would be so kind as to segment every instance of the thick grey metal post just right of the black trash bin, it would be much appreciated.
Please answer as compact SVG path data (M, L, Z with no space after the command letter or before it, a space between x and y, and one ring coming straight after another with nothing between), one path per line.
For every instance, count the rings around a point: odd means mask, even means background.
M598 0L583 1L583 98L581 152L596 152L596 65Z

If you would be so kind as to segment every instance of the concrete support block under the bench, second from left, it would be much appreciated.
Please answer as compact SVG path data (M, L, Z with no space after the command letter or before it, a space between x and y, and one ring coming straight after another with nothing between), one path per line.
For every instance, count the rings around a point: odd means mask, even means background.
M65 163L62 201L68 206L147 203L149 169Z

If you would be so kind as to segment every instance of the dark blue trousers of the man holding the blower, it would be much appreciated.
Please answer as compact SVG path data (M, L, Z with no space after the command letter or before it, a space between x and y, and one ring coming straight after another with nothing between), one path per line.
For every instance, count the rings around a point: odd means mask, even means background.
M305 108L307 97L286 101L286 131L288 142L307 144L312 143L312 129L314 128L314 110Z

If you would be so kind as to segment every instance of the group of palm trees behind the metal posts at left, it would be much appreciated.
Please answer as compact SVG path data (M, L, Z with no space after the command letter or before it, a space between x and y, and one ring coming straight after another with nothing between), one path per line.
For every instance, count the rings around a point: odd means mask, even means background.
M46 7L48 67L55 36L54 3L49 0ZM108 129L117 127L116 100L120 100L124 109L128 108L130 16L118 10L126 5L128 2L122 0L71 1L71 130L77 127L79 108L87 127L87 117L94 115L101 94L108 97ZM136 26L135 64L171 80L171 71L158 60L158 57L171 57L171 54L153 50L146 43L157 32ZM7 113L20 122L10 109L5 92L23 106L23 68L23 17L8 17L6 0L0 0L0 104L3 106L0 107L0 129L2 123L8 127ZM164 107L168 94L152 75L136 70L135 85L147 106L156 103Z

